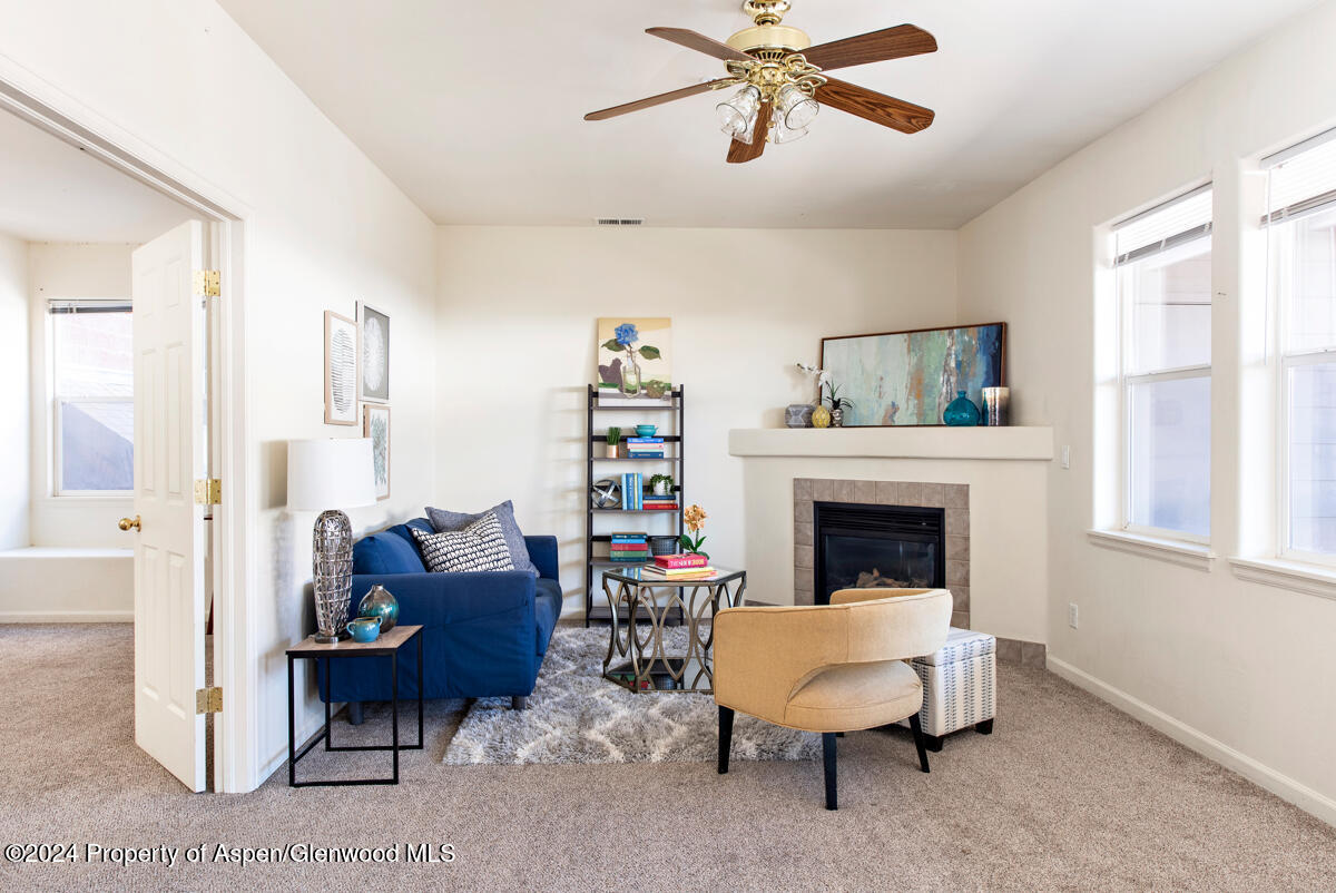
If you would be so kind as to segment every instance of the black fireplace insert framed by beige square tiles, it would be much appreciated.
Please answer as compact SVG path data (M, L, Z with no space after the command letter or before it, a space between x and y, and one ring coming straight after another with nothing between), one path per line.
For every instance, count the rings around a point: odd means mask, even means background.
M816 604L848 588L946 586L945 509L814 503Z

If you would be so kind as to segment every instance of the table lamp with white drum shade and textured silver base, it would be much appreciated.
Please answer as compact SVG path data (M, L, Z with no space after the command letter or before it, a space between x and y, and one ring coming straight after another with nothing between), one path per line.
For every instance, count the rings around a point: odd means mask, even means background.
M311 548L315 640L339 640L353 588L353 525L345 508L375 504L369 438L287 441L287 508L321 512Z

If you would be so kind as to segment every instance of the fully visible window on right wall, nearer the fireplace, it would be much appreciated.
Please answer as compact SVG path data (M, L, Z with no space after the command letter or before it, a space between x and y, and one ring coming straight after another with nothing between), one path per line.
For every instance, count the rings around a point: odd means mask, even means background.
M1116 225L1122 527L1210 535L1210 187Z

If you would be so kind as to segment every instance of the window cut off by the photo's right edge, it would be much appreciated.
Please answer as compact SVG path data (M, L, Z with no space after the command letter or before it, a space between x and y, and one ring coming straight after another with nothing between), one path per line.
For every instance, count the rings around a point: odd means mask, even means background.
M1283 557L1336 560L1336 132L1264 160L1280 320Z

